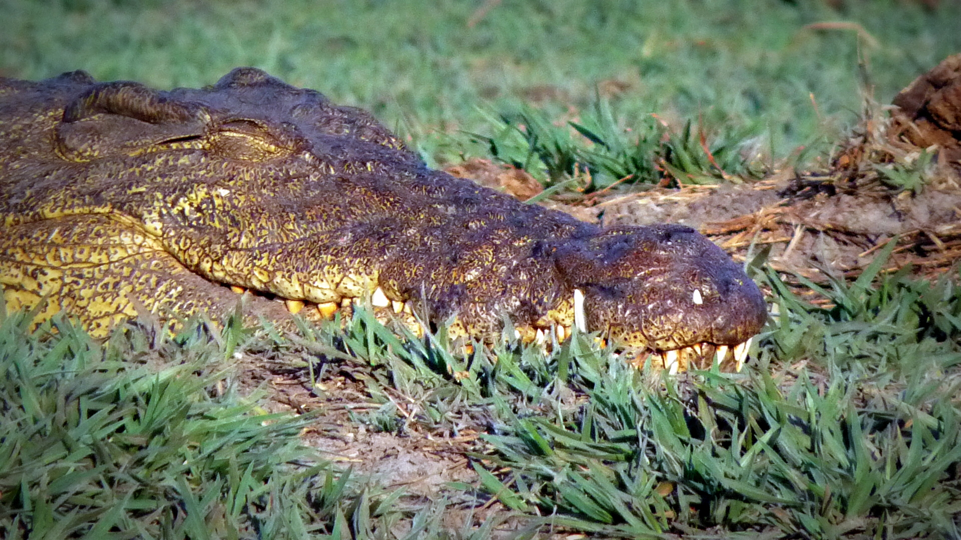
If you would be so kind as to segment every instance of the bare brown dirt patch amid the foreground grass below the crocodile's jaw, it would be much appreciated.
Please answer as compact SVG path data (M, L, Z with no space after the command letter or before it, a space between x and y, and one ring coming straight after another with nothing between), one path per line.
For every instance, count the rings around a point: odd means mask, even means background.
M289 367L291 356L317 361L303 351L287 352L276 359L253 356L244 362L244 382L251 387L265 386L274 411L322 411L304 432L304 440L333 462L352 468L358 477L378 486L404 487L408 495L417 497L436 495L450 481L476 479L465 455L484 450L477 426L468 425L456 433L424 431L416 421L421 411L412 400L388 395L390 403L382 404L371 397L364 382L369 379L365 373L368 366L334 364L313 387L307 368ZM378 415L380 410L385 413ZM373 425L378 418L396 422Z

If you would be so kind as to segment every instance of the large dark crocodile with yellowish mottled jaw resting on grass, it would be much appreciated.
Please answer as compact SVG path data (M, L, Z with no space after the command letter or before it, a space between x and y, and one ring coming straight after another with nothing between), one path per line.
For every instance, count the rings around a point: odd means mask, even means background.
M599 331L677 371L740 368L766 321L757 285L693 229L522 203L251 67L169 91L0 79L0 222L6 308L65 311L95 336L144 310L214 318L246 299L321 320L362 304L465 342Z

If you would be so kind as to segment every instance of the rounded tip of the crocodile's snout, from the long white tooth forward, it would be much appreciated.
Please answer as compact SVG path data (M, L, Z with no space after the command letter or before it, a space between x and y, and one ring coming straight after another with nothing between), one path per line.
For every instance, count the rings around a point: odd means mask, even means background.
M757 285L694 229L620 227L558 250L577 326L664 356L671 367L727 351L738 364L767 318Z

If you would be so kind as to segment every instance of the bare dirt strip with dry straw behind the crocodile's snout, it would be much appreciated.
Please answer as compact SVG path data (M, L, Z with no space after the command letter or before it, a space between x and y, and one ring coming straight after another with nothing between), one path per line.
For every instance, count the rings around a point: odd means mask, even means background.
M896 235L899 246L888 269L913 264L931 274L961 258L961 189L914 195L798 177L713 189L655 189L602 206L604 224L683 223L740 260L752 246L755 251L770 246L773 268L819 282L825 273L860 274Z

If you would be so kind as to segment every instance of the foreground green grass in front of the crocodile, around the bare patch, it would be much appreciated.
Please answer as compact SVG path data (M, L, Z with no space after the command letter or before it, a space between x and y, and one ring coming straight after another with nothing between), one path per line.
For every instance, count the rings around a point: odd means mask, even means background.
M480 491L527 524L528 537L957 537L961 287L956 276L878 276L887 255L858 281L809 283L830 308L799 300L775 273L758 276L775 291L777 315L737 375L661 379L590 336L545 355L509 339L509 328L494 349L463 357L443 329L403 339L363 310L343 331L283 336L231 324L163 337L141 325L104 344L62 321L51 334L8 317L0 532L393 538L404 522L405 538L480 540L503 518L456 532L438 517ZM267 415L262 393L235 391L242 374L225 358L264 348L289 367L313 365L311 356L354 365L385 405L357 418L375 430L485 430L477 483L398 510L402 492L338 476L298 444L312 415ZM417 412L389 406L388 394Z

